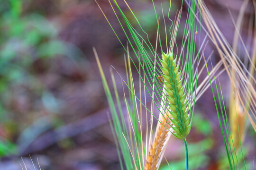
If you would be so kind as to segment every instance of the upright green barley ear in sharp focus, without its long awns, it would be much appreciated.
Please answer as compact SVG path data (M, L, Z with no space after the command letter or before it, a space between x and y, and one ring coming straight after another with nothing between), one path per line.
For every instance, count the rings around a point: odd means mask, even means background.
M173 52L165 54L162 52L161 70L163 72L165 91L167 94L168 106L171 111L174 136L185 139L191 129L190 116L186 107L185 94L183 94L183 78L177 65L177 58L174 59Z

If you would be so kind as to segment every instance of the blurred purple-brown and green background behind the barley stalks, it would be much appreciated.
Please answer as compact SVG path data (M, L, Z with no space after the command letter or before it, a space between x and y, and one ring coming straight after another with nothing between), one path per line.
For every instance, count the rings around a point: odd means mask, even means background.
M126 44L109 2L97 1ZM232 44L234 25L227 8L236 20L243 1L205 2ZM152 1L128 3L155 44L157 24ZM160 12L161 3L168 7L168 0L155 0ZM125 4L120 4L130 15ZM172 18L180 7L180 0L172 1ZM187 11L186 5L183 11ZM248 6L245 22L254 14ZM245 26L241 34L245 40L247 32ZM204 36L202 31L201 39ZM107 79L111 65L125 73L125 51L94 0L0 0L0 170L21 170L24 164L32 170L31 159L38 170L38 161L45 170L120 169L93 47ZM213 50L209 42L205 55ZM213 63L218 60L214 52ZM229 96L228 76L222 74L219 79L225 81L222 88ZM121 82L118 88L122 91ZM225 151L211 91L197 102L195 113L187 139L190 166L195 170L226 169L228 162L220 163ZM249 127L244 148L249 162L256 154L255 144L255 132ZM174 169L181 169L182 141L172 138L165 155Z

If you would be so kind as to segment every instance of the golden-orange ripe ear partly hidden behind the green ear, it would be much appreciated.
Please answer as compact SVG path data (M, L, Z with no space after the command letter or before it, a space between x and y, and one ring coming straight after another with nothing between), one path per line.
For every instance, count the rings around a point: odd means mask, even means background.
M149 153L146 159L145 170L157 170L160 165L162 154L165 151L166 143L170 138L169 128L171 120L169 117L170 115L168 115L168 111L166 111L165 117L161 117L161 123L158 122L155 138L149 148Z

